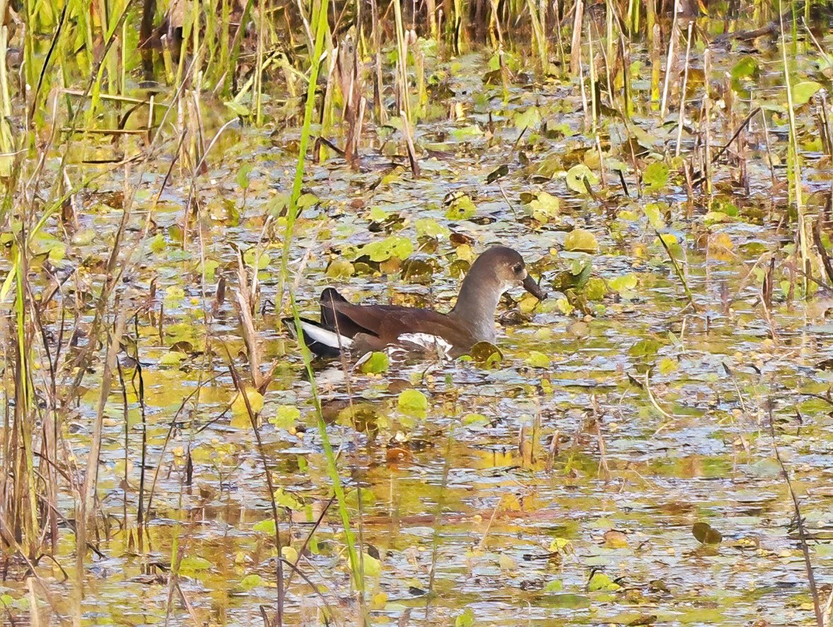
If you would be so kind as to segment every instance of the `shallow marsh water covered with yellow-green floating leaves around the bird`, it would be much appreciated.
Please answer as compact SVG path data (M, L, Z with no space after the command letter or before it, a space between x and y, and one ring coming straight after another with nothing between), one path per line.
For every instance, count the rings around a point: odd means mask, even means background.
M716 41L719 24L701 24ZM826 22L813 32L828 50ZM50 336L62 324L67 337L87 328L133 195L120 304L106 316L112 333L117 311L130 312L103 410L100 517L87 538L96 551L79 579L77 496L57 495L65 519L54 560L38 561L33 591L12 560L6 620L28 620L34 599L54 624L273 621L265 459L283 555L303 575L287 585L286 625L355 625L362 613L372 625L815 625L800 536L809 536L824 605L833 585L833 276L816 256L801 271L796 221L807 233L821 221L830 246L833 178L818 121L831 66L806 30L796 37L786 33L789 73L818 83L794 103L800 211L777 34L721 39L708 76L704 39L692 42L679 150L683 77L661 117L638 47L631 116L602 112L597 143L575 77L544 76L507 53L504 84L488 47L455 55L420 40L429 96L413 127L421 175L400 157L397 118L368 122L357 168L316 147L282 296L297 98L267 89L262 127L224 126L235 113L206 94L189 103L200 108L207 147L193 170L172 162L179 136L162 110L163 149L136 163L89 161L127 159L141 135L77 132L67 172L86 184L75 215L47 219L32 241L41 262L28 270L40 294L70 276L62 305L47 311ZM675 160L701 150L706 89L712 155L761 107L711 166L711 193L702 182L690 190ZM150 92L136 84L130 95L147 102ZM101 127L127 106L105 104L113 111ZM331 122L313 134L338 143L342 130ZM48 154L47 172L59 160ZM362 556L360 606L312 386L282 328L287 294L313 318L324 286L351 301L447 311L468 264L493 243L520 251L550 296L504 298L499 358L416 360L377 373L313 362ZM815 255L812 241L809 249ZM257 281L263 373L274 366L252 408L257 437L229 366L251 377L238 251ZM62 321L62 307L77 320ZM87 463L107 344L106 333L78 338L74 346L102 341L102 350L61 423L70 474ZM36 357L37 396L48 368ZM402 402L409 390L426 405Z

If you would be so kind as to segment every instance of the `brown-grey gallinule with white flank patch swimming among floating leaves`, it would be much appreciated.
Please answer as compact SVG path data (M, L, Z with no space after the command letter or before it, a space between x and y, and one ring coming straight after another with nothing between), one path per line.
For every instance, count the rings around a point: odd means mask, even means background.
M493 246L471 264L456 305L447 314L418 307L353 305L327 287L321 295L321 321L302 318L301 330L310 351L322 357L337 357L345 350L362 356L387 348L436 349L460 356L477 342L495 343L497 303L503 292L516 285L539 300L546 298L517 251ZM283 322L295 337L294 319Z

